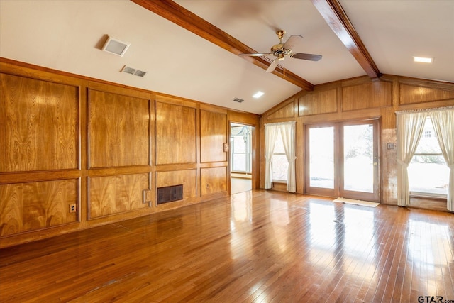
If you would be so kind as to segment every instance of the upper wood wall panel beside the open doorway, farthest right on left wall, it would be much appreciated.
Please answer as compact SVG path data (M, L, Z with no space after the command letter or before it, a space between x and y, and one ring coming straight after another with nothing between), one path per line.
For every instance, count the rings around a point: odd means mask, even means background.
M223 150L227 136L227 114L200 111L201 162L227 161L228 153Z

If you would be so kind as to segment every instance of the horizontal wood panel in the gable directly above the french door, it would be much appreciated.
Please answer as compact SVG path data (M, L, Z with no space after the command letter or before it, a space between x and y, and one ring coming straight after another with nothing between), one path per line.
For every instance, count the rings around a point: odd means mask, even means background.
M342 88L343 111L392 106L392 82L375 81Z

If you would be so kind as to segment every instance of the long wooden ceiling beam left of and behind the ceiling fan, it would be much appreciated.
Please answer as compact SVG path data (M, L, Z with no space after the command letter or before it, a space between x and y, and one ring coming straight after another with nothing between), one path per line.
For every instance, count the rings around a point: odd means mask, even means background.
M204 19L196 16L191 11L184 9L184 7L170 0L131 0L135 4L142 6L153 13L156 13L162 18L166 18L168 21L171 21L182 28L186 28L188 31L199 35L201 38L208 40L211 43L214 43L229 52L240 55L243 53L258 53L252 48L248 47L244 43L241 43L236 38L233 38L228 33L222 31L220 28L217 28L213 24L205 21ZM270 66L271 60L267 57L248 57L242 56L243 59L252 62L254 65L261 67L266 70ZM314 84L306 81L305 79L295 75L289 70L284 70L281 67L277 67L274 72L274 75L281 77L282 79L287 80L288 82L301 87L306 91L311 91L314 89Z

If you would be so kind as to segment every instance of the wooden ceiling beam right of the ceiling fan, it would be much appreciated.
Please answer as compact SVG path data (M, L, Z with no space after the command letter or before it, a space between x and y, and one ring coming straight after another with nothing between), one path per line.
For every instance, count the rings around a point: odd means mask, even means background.
M362 43L360 35L348 19L338 0L311 0L312 4L325 19L328 26L341 39L345 47L355 57L362 69L371 78L379 78L382 74L374 60Z

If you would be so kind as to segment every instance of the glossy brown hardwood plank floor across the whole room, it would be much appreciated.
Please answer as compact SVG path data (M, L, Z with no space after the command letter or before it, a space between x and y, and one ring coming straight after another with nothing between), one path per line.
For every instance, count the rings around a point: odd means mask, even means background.
M453 285L453 214L263 190L0 250L1 302L451 303Z

